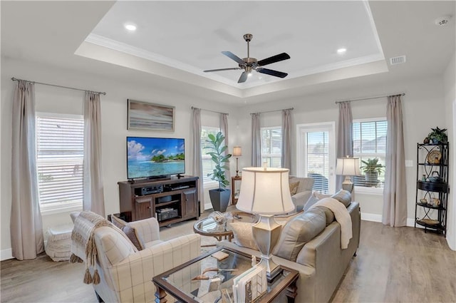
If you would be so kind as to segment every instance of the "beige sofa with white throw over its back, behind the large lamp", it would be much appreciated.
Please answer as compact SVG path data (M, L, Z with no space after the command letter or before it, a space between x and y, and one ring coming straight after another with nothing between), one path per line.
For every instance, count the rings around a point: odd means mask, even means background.
M345 250L341 249L341 225L337 221L333 221L304 245L296 262L273 256L276 264L299 270L296 302L328 302L341 281L351 258L356 255L361 227L361 212L358 202L351 202L347 210L351 216L353 237ZM231 247L257 257L261 255L259 251L240 247L235 242L223 241L219 243L219 246Z

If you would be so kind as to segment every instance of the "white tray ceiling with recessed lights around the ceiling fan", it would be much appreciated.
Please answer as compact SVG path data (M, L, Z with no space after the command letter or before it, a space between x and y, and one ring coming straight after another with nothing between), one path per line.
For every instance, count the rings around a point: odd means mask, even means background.
M455 19L434 24L444 15L455 16L455 1L1 1L1 55L260 102L362 76L441 74L455 52ZM266 66L289 76L254 73L239 84L242 71L202 72L236 67L220 52L247 57L247 33L254 58L289 53ZM402 55L406 63L390 66Z

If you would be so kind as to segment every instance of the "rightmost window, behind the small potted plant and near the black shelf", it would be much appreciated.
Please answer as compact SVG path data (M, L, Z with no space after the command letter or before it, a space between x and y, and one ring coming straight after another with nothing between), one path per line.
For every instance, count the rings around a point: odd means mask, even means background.
M354 178L355 185L383 188L385 183L386 131L388 123L385 118L369 120L353 120L353 156L361 160L378 158L378 164L383 165L378 181L364 176ZM363 163L361 163L363 173ZM365 175L365 173L363 173Z

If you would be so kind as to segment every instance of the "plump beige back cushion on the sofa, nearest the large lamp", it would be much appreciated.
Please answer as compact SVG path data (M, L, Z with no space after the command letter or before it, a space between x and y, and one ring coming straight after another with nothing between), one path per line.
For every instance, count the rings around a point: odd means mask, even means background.
M312 208L286 223L273 254L296 262L302 247L326 227L326 215L319 208Z

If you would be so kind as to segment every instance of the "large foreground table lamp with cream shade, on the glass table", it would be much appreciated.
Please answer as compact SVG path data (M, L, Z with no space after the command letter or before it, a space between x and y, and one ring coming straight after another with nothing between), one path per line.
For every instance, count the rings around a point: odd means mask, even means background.
M252 226L254 241L261 252L261 263L266 267L266 277L271 280L279 267L271 260L271 252L280 237L281 225L274 215L295 209L289 187L289 170L286 168L244 168L238 210L259 215L259 222Z

